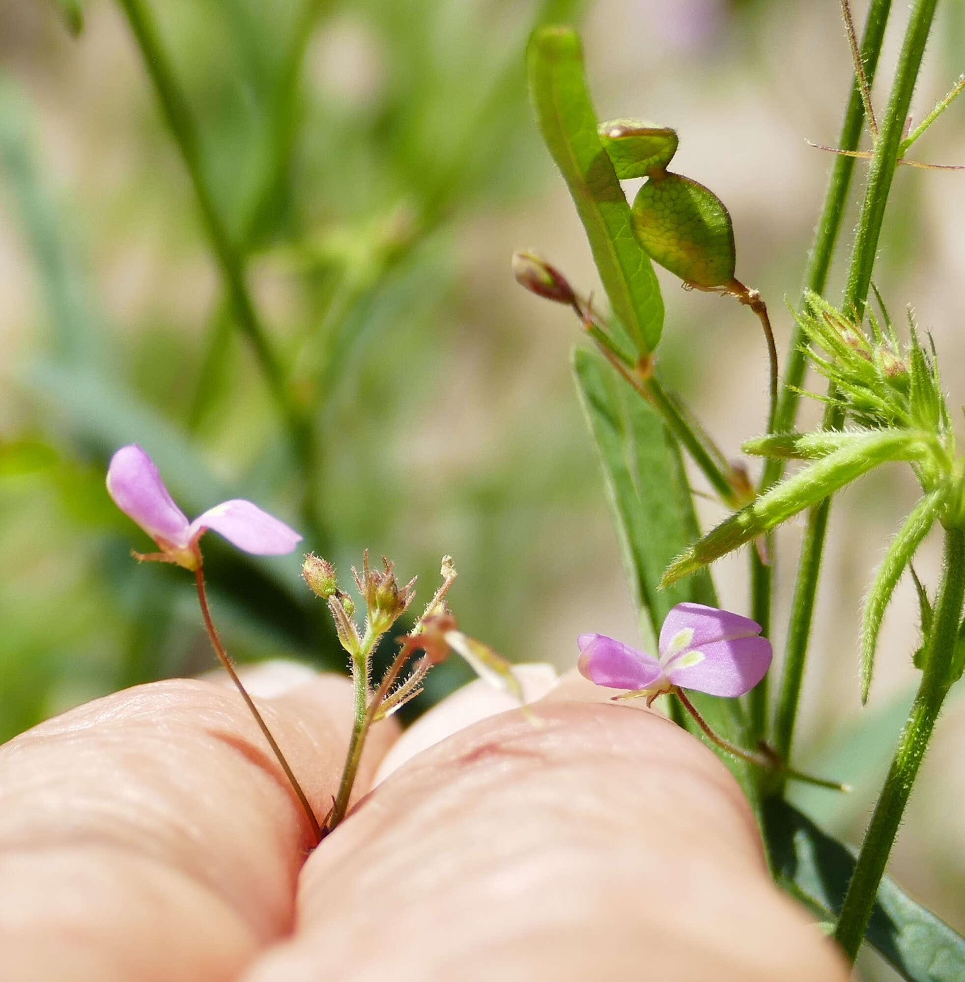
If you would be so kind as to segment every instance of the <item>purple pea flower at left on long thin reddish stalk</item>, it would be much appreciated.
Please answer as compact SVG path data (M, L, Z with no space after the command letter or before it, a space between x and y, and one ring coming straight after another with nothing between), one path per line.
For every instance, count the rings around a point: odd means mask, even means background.
M255 556L290 553L302 539L284 522L240 498L215 505L189 521L175 505L154 462L136 443L111 458L107 491L114 504L160 546L160 553L142 558L177 563L187 570L200 568L198 540L209 528Z

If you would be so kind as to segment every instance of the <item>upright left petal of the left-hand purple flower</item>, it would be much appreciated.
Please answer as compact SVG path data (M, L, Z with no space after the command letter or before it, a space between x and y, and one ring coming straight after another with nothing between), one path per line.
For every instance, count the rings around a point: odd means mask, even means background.
M136 443L122 447L107 468L107 493L152 538L180 548L191 541L188 518L174 504L154 462Z

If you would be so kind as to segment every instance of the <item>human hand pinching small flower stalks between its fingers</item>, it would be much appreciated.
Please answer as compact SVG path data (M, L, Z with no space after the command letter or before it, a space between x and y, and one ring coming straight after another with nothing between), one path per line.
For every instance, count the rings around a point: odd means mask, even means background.
M233 690L156 682L50 720L0 748L0 980L846 979L726 769L597 693L568 679L539 726L504 713L429 748L307 862ZM349 683L257 701L323 816ZM397 736L372 731L362 791Z

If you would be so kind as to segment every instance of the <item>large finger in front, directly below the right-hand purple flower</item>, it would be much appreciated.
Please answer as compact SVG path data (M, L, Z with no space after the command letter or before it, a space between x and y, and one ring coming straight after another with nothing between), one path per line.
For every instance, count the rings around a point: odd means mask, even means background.
M246 982L844 982L717 758L651 712L567 692L538 704L541 725L478 723L372 791Z

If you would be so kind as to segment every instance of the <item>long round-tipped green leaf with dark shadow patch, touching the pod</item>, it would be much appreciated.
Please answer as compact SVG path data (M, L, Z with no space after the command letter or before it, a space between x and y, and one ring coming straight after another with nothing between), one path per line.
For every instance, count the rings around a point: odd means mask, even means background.
M663 330L663 300L596 133L579 35L571 27L540 27L530 39L528 65L539 129L573 196L603 289L640 354L648 355Z

